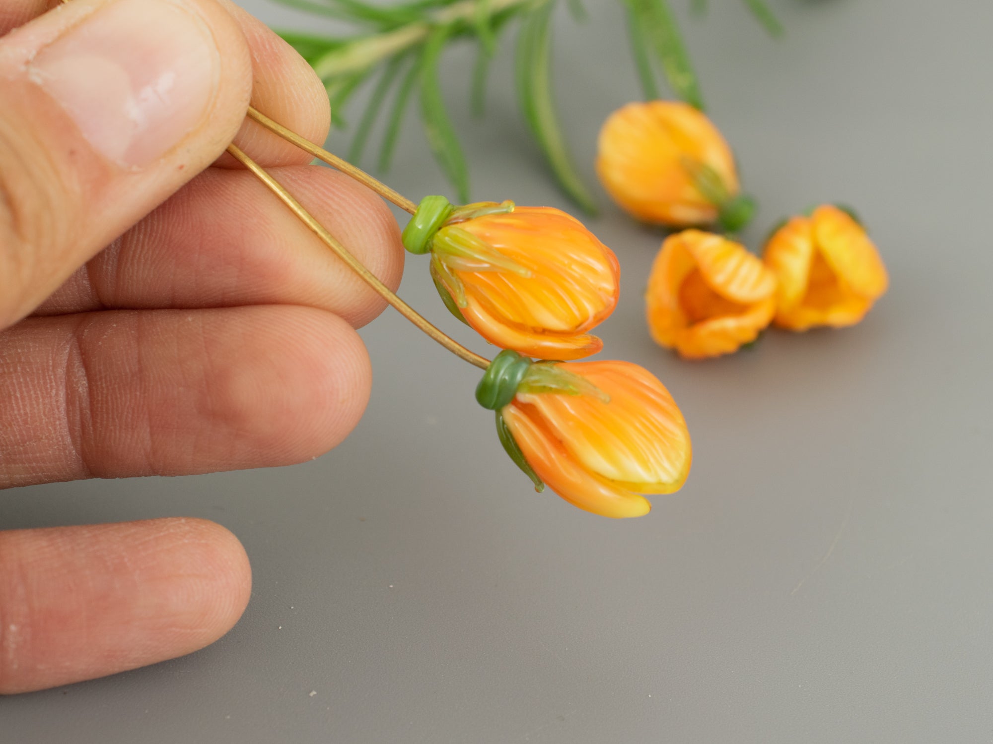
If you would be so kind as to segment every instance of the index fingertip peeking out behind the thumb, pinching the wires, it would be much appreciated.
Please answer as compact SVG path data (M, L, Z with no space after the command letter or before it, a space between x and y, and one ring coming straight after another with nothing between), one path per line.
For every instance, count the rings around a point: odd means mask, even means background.
M331 104L310 64L264 23L229 0L217 0L240 24L252 62L251 104L304 139L323 145L331 129ZM265 167L305 166L313 157L268 129L245 119L235 144ZM214 164L242 168L226 153Z

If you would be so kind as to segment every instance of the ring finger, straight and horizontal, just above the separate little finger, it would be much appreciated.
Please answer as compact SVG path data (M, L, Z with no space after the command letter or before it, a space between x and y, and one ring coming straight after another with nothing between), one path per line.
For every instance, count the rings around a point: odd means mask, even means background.
M0 487L312 459L370 385L355 330L323 310L28 318L0 333Z

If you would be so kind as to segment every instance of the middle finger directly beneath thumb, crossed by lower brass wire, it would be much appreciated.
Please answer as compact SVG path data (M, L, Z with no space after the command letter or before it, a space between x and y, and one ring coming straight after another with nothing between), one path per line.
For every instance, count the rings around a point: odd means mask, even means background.
M272 174L396 290L404 250L382 199L328 168ZM251 174L210 169L73 274L37 313L257 304L312 306L355 327L385 307Z

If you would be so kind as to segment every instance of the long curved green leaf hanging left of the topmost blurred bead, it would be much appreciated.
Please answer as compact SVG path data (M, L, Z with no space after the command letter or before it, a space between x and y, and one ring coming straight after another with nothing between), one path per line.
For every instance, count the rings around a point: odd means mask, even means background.
M594 214L593 196L576 172L552 103L549 22L553 10L552 3L545 3L523 22L517 39L517 94L524 119L559 185L583 211Z

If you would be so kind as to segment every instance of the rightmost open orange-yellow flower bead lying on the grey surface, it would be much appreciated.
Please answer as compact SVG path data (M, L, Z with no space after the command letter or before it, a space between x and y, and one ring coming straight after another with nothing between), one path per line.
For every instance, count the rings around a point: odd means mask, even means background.
M779 280L775 322L790 330L854 325L889 286L865 229L830 204L780 227L766 244L765 262Z

